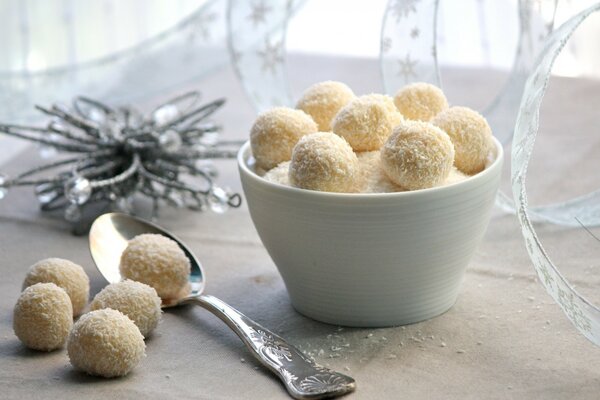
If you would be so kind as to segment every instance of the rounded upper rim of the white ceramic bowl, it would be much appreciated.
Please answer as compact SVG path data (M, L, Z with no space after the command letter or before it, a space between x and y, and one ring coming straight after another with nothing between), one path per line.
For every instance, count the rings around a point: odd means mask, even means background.
M504 161L504 148L500 141L496 137L492 137L495 146L495 158L494 161L487 166L483 171L469 176L467 179L460 182L455 182L449 185L436 186L427 189L408 190L404 192L389 192L389 193L337 193L337 192L321 192L318 190L308 190L297 188L293 186L282 185L268 181L253 171L247 164L247 160L250 154L250 140L246 141L239 149L237 154L238 168L248 177L259 182L260 184L272 188L272 190L278 190L284 193L296 194L301 196L312 196L314 198L329 198L329 199L388 199L388 198L408 198L415 196L424 196L430 193L442 193L447 190L460 190L463 186L471 186L477 184L479 181L485 181L488 177L497 174L497 171L502 168Z

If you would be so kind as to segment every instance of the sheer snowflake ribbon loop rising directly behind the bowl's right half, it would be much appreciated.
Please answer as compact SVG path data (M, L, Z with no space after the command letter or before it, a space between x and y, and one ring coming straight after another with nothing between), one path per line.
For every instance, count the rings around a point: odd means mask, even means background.
M519 1L520 35L512 71L495 99L481 111L494 135L504 144L512 139L525 79L535 65L535 56L544 39L552 31L557 4L558 0ZM482 8L484 3L474 2L474 6ZM440 0L388 1L379 57L386 92L393 94L412 82L429 82L442 87L438 43L443 40L443 32L438 31L439 14ZM479 14L485 19L483 10L479 10ZM485 25L485 20L480 24Z

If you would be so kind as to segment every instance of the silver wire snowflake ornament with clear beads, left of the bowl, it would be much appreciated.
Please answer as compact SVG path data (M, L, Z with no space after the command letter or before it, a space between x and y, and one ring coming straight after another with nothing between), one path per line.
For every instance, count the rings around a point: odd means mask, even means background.
M62 210L69 222L98 205L133 212L135 196L151 200L154 218L164 204L217 213L239 207L239 194L214 184L210 160L235 157L241 142L220 140L220 127L207 122L225 100L199 105L199 99L189 92L144 116L77 97L72 108L37 106L51 117L46 126L0 124L0 133L61 156L14 178L0 175L0 199L11 187L34 186L42 210Z

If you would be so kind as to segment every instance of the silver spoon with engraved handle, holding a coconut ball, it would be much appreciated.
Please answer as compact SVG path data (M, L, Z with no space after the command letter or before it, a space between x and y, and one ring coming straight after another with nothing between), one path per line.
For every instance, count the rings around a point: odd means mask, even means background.
M336 397L356 388L351 377L316 364L282 337L216 297L202 294L205 282L202 264L183 242L155 224L119 213L104 214L94 221L90 228L90 251L96 267L109 283L121 280L121 254L128 241L142 233L158 233L175 240L192 265L189 295L177 302L163 304L163 308L197 304L212 312L233 329L258 361L283 381L295 399Z

